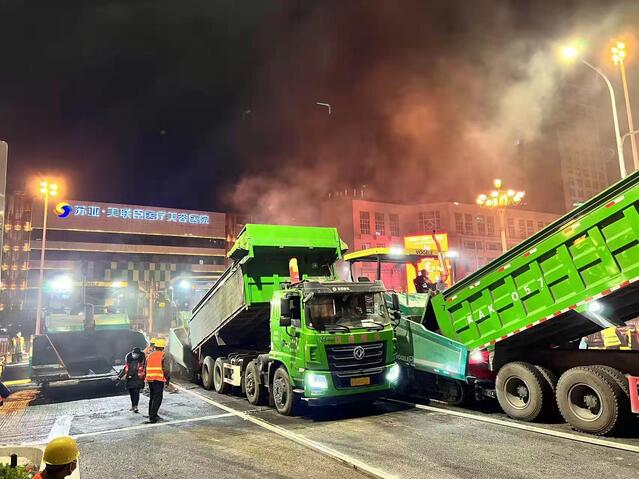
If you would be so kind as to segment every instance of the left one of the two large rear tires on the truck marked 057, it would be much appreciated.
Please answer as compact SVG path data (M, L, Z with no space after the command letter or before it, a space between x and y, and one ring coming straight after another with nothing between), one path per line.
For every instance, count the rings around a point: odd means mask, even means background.
M535 366L521 361L505 364L495 381L497 401L513 419L534 421L551 401L546 379Z

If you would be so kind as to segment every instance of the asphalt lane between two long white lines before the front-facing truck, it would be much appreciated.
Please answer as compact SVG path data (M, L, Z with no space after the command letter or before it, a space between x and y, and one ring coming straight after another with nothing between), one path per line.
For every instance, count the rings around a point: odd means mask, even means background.
M191 391L236 410L250 410L241 397L201 388ZM433 409L437 410L378 401L367 408L307 408L293 418L269 408L251 414L397 477L637 477L639 454L635 452Z

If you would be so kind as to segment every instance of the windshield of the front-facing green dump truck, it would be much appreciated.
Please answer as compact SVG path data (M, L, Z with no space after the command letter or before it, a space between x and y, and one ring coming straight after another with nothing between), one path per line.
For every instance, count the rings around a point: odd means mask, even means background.
M306 303L306 322L317 330L383 329L390 316L381 293L319 294Z

